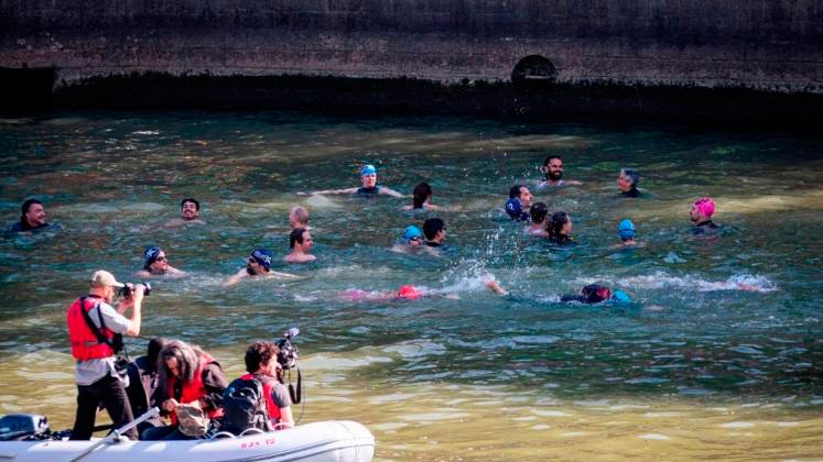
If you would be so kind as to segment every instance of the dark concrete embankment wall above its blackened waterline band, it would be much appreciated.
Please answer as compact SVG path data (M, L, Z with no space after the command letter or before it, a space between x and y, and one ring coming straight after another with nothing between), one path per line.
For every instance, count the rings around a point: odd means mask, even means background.
M581 87L699 87L819 101L823 2L0 0L0 67L54 68L57 95L163 73L483 82L503 95L513 77L570 100Z

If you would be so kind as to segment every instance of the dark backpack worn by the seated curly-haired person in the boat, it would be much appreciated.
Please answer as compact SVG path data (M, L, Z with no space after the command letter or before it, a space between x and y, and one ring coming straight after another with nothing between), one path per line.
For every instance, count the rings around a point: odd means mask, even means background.
M263 384L258 378L236 378L223 393L221 430L235 435L259 428L271 431L269 413L263 396Z

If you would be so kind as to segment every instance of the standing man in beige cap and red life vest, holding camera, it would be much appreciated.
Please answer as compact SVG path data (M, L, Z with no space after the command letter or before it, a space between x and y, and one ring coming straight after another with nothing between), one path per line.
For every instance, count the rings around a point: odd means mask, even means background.
M134 418L126 395L128 375L120 375L115 366L115 355L122 349L122 336L140 334L140 311L143 285L128 285L130 295L123 296L115 309L110 304L126 284L118 283L107 271L96 271L89 280L88 295L78 298L68 307L66 320L72 340L72 355L76 360L77 414L72 429L73 440L91 438L97 416L97 406L109 413L115 427L123 426ZM123 316L131 308L131 318ZM126 432L138 439L137 429Z

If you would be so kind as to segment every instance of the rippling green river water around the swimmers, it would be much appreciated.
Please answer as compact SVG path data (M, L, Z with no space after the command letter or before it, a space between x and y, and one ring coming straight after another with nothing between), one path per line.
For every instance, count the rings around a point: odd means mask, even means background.
M139 354L154 336L242 371L255 339L300 327L302 421L354 419L379 460L808 460L823 454L820 229L823 138L674 125L524 123L300 112L82 112L0 120L0 212L34 195L59 228L0 240L0 413L71 427L65 309L97 268L138 280L156 244L183 278L152 280ZM580 242L522 234L501 207L549 154L581 186L532 188ZM410 199L301 196L356 186L358 167ZM645 196L617 197L621 166ZM184 197L206 226L164 228ZM690 234L717 202L724 232ZM317 262L279 263L288 210L311 210ZM440 257L389 249L440 216ZM613 248L630 218L645 246ZM294 280L221 283L255 248ZM483 284L497 278L511 295ZM589 283L627 306L563 305ZM755 290L739 290L738 283ZM362 301L414 284L452 297ZM456 298L456 299L455 299Z

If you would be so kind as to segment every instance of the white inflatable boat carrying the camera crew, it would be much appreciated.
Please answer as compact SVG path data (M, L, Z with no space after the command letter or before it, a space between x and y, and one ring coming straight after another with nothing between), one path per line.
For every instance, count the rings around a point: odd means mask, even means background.
M292 429L187 441L3 441L0 462L369 462L375 437L354 421L305 424Z

